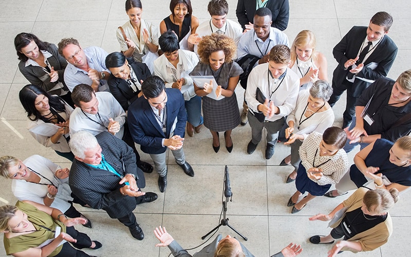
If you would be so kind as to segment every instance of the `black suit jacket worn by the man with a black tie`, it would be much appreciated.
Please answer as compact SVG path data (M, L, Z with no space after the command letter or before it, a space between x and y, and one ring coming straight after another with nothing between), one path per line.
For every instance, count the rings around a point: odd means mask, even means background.
M332 54L339 63L335 68L332 76L332 86L337 87L340 90L345 90L347 83L346 77L351 67L344 68L344 63L348 59L355 59L358 55L358 51L367 36L367 27L354 26L348 31L344 38L334 47ZM364 68L359 72L357 77L376 80L381 77L386 77L389 69L394 63L397 57L398 47L388 35L384 35L384 38L378 44L377 48L371 53L371 55L364 62ZM375 69L366 67L369 63L377 63L378 66ZM356 78L352 83L352 96L360 97L362 91L367 88L371 83L365 82Z

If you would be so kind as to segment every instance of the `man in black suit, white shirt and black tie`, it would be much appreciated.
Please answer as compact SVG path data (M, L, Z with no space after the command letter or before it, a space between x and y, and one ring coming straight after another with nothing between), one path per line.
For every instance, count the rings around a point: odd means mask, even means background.
M393 17L377 12L368 27L354 26L332 53L339 63L332 76L333 94L328 103L333 106L347 90L343 128L355 113L357 98L376 79L385 77L394 63L398 48L387 36Z

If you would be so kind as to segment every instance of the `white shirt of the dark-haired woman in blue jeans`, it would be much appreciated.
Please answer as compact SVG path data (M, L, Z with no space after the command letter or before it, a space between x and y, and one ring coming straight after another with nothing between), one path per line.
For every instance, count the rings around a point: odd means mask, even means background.
M183 96L184 100L188 101L196 96L193 80L189 74L198 62L198 57L194 52L178 49L177 68L162 54L154 61L154 75L160 77L165 82L165 86L170 88L177 79L184 78L189 88L184 91Z

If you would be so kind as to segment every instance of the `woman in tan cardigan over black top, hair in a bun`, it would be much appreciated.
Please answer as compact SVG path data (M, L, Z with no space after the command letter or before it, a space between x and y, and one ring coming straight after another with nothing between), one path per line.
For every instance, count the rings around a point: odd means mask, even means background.
M388 211L398 201L398 190L391 188L368 190L359 188L328 215L317 214L310 221L330 221L333 228L327 236L310 237L312 244L333 244L343 237L328 252L329 257L340 251L372 251L388 242L393 233L393 221Z

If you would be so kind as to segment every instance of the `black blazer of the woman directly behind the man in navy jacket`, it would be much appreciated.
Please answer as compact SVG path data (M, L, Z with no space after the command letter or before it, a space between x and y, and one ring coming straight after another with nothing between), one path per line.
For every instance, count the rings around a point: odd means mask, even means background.
M139 83L140 80L144 81L147 77L151 76L150 69L148 69L145 63L134 62L130 64L130 66L134 70ZM107 84L111 94L113 94L116 100L120 103L124 111L127 111L128 106L138 98L137 95L140 93L140 90L134 93L133 89L127 84L127 81L116 78L113 74L110 74Z

